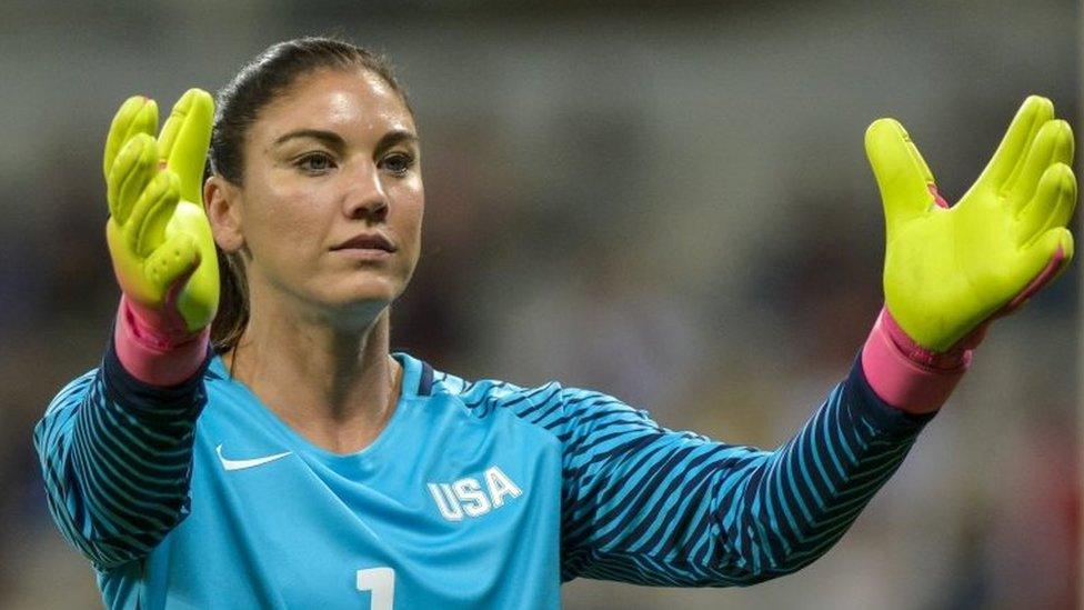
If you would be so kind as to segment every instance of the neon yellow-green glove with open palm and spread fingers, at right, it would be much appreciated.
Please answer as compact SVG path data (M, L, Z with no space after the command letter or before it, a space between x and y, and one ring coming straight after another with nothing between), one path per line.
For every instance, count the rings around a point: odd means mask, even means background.
M986 169L950 208L893 119L865 136L886 222L885 307L917 346L973 348L1073 258L1073 132L1046 98L1027 98Z

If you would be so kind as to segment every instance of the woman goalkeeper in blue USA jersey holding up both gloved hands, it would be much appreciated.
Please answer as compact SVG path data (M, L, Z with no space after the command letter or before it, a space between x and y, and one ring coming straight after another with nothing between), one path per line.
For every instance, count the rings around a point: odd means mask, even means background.
M219 94L213 134L210 106L190 91L157 140L153 102L114 119L114 332L36 429L50 510L109 607L551 608L576 577L793 572L895 471L988 321L1072 256L1072 133L1048 101L1025 102L952 213L899 123L877 121L887 307L806 426L762 451L603 393L389 353L423 189L379 58L283 42Z

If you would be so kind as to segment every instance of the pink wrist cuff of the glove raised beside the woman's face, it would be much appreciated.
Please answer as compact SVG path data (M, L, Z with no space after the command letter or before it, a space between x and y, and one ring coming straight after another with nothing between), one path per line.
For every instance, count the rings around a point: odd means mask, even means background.
M210 327L197 333L163 331L149 318L153 317L121 296L113 342L124 370L151 386L177 386L190 379L207 358Z

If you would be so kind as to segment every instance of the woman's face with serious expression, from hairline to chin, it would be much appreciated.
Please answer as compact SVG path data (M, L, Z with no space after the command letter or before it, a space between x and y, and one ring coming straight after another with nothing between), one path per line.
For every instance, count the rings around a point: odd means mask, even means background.
M367 316L402 293L425 198L414 121L394 89L363 69L305 74L261 109L243 150L250 282Z

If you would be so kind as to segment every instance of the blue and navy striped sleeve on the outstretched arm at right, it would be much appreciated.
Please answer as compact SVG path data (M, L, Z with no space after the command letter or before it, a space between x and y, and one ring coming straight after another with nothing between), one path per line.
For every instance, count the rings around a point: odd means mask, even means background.
M881 401L860 359L774 451L671 431L613 397L556 383L502 402L562 442L562 581L666 587L747 586L811 563L934 416Z

